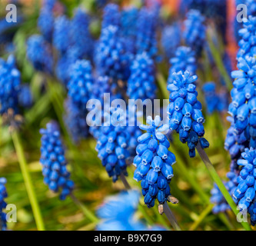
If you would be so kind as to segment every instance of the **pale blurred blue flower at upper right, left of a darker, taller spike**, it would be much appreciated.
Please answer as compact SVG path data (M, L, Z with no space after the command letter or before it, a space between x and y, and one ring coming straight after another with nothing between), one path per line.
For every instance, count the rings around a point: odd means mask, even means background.
M178 22L167 25L161 33L161 46L165 56L170 59L175 56L175 51L181 44L181 27Z

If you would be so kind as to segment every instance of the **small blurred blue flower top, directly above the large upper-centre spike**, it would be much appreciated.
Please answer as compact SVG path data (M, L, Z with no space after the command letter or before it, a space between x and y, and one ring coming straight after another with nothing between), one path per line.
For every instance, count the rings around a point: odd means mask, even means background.
M101 23L101 29L107 28L109 25L120 26L121 14L119 12L118 5L109 3L103 10L103 20Z

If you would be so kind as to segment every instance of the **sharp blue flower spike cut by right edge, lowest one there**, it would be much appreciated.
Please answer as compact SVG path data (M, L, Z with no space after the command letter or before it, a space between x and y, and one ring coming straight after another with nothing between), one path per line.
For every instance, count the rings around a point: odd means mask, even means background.
M238 199L238 206L243 210L248 209L255 198L256 150L245 148L238 165L241 166L241 171L237 179L238 187L234 190L233 196Z

